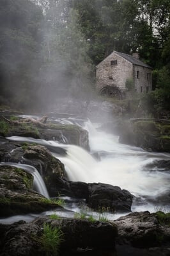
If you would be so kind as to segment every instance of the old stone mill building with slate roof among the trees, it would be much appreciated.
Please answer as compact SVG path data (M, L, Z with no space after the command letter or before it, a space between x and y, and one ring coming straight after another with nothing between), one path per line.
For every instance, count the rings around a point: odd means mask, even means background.
M131 86L147 93L152 89L151 73L152 68L139 60L138 53L131 56L113 51L97 65L97 90L101 94L121 94Z

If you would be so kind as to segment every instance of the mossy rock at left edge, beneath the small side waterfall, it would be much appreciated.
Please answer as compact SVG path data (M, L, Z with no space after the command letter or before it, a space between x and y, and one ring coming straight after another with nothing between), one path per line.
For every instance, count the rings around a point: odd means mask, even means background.
M0 166L0 194L1 217L59 207L33 191L33 176L17 167Z

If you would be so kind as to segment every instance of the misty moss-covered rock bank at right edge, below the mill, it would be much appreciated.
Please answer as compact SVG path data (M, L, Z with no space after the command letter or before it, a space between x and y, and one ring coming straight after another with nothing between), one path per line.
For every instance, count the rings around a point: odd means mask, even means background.
M132 119L131 123L121 124L120 142L149 151L170 152L170 125L166 121Z

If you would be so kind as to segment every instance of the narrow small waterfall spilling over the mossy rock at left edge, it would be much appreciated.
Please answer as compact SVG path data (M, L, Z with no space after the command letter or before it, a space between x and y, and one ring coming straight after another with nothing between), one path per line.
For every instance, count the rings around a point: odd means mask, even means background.
M20 169L23 169L24 171L27 171L27 173L31 173L34 177L34 187L35 187L35 191L39 192L40 194L42 194L43 196L45 196L45 198L49 198L49 193L47 191L47 188L45 186L45 183L43 182L42 176L40 175L40 173L38 173L37 169L33 166L29 166L27 164L15 164L15 163L1 163L2 165L8 165L8 166L14 166Z

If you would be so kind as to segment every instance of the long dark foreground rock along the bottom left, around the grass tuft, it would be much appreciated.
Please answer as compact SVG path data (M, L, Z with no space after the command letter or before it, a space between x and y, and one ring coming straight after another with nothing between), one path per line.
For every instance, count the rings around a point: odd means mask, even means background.
M59 228L63 232L59 255L72 255L73 252L77 255L88 250L91 253L96 248L114 251L117 228L111 223L99 221L91 223L86 219L69 218L53 220L49 216L42 216L31 223L22 221L5 227L0 225L0 230L3 232L1 256L39 256L50 253L48 245L46 250L42 246L43 226L46 223L53 229ZM51 255L54 253L56 252Z

